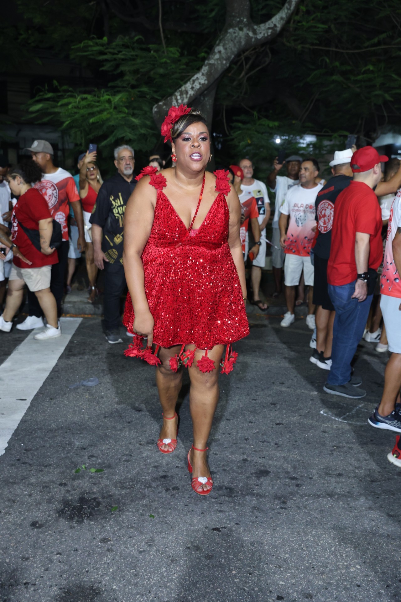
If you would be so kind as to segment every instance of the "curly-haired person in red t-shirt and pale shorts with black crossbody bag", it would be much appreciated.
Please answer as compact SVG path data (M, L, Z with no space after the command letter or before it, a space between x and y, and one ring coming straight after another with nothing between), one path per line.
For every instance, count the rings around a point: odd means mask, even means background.
M52 265L58 262L57 250L50 247L53 219L46 200L36 188L31 186L31 183L40 181L42 175L37 163L29 160L11 169L7 176L11 192L19 197L11 214L13 224L11 241L29 260L29 266L25 261L14 256L8 279L5 309L0 317L0 329L10 332L13 317L22 303L26 284L37 296L47 320L43 332L35 335L36 340L46 340L61 335L61 328L57 323L57 303L50 290ZM22 226L39 231L41 250L34 246Z

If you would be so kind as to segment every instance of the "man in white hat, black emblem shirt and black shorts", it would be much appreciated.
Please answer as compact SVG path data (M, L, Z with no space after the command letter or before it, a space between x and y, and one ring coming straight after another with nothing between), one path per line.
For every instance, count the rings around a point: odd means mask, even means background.
M329 179L316 197L317 238L313 247L314 282L313 303L316 304L316 349L310 361L323 370L331 368L331 345L334 323L334 307L327 288L327 263L330 256L331 228L334 203L338 194L352 180L350 160L352 149L335 151L329 163L333 177Z

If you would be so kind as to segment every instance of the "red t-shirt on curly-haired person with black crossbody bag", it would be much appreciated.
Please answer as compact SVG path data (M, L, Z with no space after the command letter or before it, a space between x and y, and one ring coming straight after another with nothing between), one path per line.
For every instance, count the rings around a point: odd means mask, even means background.
M26 193L19 197L11 214L11 240L19 248L22 255L32 261L32 265L25 263L15 255L14 265L17 267L42 267L43 265L58 263L57 251L54 251L52 255L44 255L44 253L38 251L20 226L20 223L22 223L29 230L38 230L39 220L46 220L49 217L52 216L46 200L36 188L29 188Z

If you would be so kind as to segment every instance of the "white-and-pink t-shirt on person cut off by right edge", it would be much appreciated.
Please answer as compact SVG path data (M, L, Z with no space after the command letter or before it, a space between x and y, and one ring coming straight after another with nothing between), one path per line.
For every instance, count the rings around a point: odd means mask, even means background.
M384 250L383 272L380 278L380 292L389 297L401 298L401 276L397 270L393 255L393 240L401 228L401 191L393 200L388 219L387 241Z

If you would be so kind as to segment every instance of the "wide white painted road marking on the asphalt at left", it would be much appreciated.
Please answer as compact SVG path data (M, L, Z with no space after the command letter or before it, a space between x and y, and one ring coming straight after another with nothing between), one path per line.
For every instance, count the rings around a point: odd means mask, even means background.
M0 456L81 320L61 318L61 337L48 341L35 341L40 330L32 330L0 366Z

